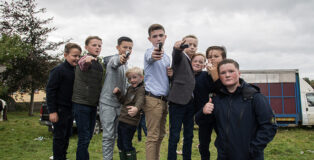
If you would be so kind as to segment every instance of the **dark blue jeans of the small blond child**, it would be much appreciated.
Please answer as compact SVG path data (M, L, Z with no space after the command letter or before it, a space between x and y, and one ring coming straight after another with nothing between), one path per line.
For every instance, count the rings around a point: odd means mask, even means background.
M135 150L132 145L132 139L136 131L136 126L126 124L119 121L118 124L118 148L123 152L130 152Z

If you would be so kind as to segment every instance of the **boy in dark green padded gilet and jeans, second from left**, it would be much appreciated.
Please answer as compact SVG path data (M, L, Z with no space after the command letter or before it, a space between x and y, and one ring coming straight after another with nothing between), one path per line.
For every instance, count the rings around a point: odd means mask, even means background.
M98 59L101 47L101 38L87 37L85 49L88 53L79 60L75 69L72 102L78 135L77 160L89 159L88 146L94 133L103 77L103 67Z

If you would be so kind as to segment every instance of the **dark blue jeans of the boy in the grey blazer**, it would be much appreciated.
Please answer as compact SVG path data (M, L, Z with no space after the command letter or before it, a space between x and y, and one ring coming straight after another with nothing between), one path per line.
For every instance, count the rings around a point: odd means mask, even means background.
M169 104L170 136L168 143L168 160L177 159L177 144L180 140L180 132L183 124L183 160L191 160L193 127L194 127L194 105L193 100L188 104Z

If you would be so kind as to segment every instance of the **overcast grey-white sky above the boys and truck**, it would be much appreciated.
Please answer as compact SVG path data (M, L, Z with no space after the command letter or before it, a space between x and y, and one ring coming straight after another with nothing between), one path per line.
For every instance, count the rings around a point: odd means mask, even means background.
M89 35L103 39L101 56L117 53L120 36L134 41L131 66L143 67L148 27L160 23L171 55L175 41L199 38L199 52L224 45L240 69L299 69L314 79L314 1L312 0L38 0L58 29L50 40L72 38L84 47Z

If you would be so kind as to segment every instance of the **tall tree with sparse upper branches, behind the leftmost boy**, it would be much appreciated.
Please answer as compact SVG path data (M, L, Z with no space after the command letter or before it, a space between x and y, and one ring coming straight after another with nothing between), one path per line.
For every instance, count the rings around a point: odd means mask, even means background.
M53 18L40 18L46 9L36 7L35 0L4 1L0 5L2 33L10 37L19 35L21 41L29 46L27 58L18 59L11 69L3 73L3 77L9 92L19 89L30 93L30 116L33 115L35 90L45 87L48 71L58 62L58 56L48 54L48 51L54 51L65 43L47 40L48 34L56 30L47 26ZM10 80L16 83L12 84Z

